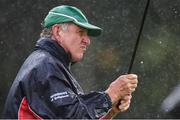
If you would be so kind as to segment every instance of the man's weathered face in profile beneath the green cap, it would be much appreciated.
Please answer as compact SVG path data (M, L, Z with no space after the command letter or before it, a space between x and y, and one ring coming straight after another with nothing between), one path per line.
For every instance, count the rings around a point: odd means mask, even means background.
M71 60L77 62L83 58L88 45L90 45L90 38L86 29L69 24L67 30L61 31L60 44L71 55Z

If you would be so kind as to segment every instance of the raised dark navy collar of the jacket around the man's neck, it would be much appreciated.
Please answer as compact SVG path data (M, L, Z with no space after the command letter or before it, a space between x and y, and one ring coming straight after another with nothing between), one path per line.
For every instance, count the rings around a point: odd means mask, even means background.
M68 68L71 65L70 55L67 54L63 47L61 47L55 40L50 38L40 38L34 50L42 49L49 52L51 55L59 59Z

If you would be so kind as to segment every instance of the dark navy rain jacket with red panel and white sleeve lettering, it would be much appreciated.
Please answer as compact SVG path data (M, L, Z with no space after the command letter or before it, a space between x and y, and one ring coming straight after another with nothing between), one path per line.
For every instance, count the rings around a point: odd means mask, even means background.
M9 91L4 118L100 118L111 108L104 92L84 94L68 54L54 40L40 39Z

